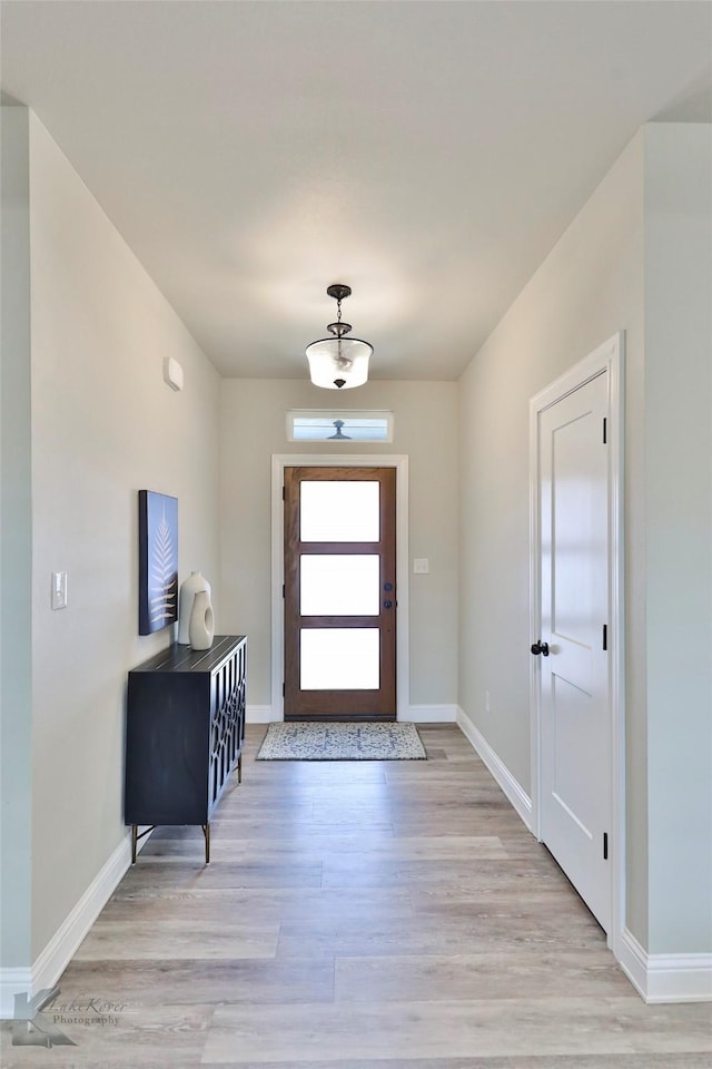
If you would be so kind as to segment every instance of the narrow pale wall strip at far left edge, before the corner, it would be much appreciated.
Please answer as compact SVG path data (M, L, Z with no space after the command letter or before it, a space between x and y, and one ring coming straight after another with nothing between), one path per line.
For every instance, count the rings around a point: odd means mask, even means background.
M0 961L30 957L32 871L29 120L2 109L0 344Z

